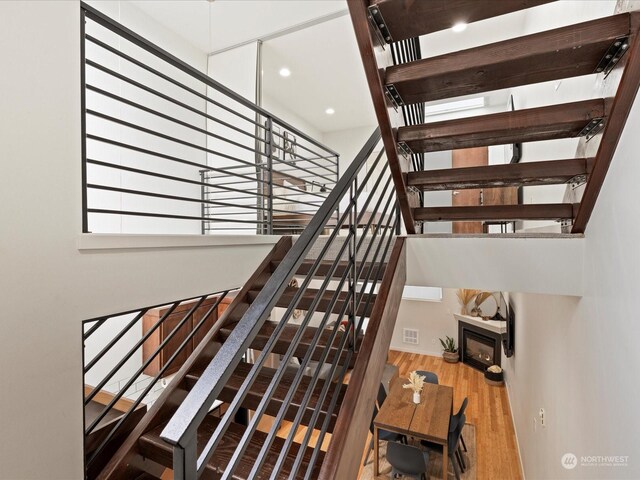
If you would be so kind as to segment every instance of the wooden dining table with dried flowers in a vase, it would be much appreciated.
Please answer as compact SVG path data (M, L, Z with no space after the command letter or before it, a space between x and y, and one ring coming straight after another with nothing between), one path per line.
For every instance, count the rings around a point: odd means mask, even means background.
M453 413L453 388L425 383L420 403L413 403L413 390L403 388L406 378L394 378L389 394L373 421L373 473L380 474L378 430L396 432L419 440L442 445L442 478L447 480L449 455L447 440L449 420Z

